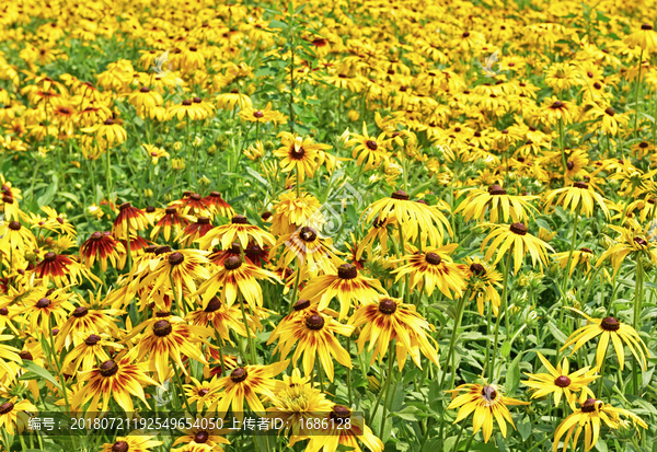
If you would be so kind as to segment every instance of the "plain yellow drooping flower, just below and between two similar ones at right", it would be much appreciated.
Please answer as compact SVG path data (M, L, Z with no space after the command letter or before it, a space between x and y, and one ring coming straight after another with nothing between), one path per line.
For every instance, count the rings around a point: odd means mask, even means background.
M486 247L486 244L493 240L488 251L484 258L491 260L495 252L497 257L493 262L493 265L497 264L505 255L505 253L512 253L514 255L514 273L520 270L525 255L529 253L531 255L532 265L537 265L538 262L548 265L546 250L554 252L552 246L528 233L527 227L522 223L506 224L492 224L485 223L482 227L491 227L493 230L484 241L482 242L482 252Z

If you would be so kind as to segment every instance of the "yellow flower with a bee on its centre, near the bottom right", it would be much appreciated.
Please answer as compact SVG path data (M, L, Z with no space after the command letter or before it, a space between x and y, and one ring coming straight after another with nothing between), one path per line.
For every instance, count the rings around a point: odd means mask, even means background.
M461 391L466 391L465 394L459 394ZM484 442L488 442L493 434L493 421L497 422L502 436L506 438L508 421L514 429L514 419L507 406L515 405L529 405L529 402L521 402L515 398L505 397L502 395L500 387L495 384L462 384L456 390L446 391L453 394L452 401L447 409L459 408L459 414L454 424L465 419L471 413L474 412L472 418L472 434L476 434L477 431L483 429Z

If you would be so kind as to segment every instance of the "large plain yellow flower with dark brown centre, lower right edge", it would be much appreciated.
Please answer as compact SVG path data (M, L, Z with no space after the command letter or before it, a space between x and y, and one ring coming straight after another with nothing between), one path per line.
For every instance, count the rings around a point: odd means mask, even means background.
M627 346L636 362L641 363L642 369L645 371L647 369L646 363L646 355L648 358L650 354L648 352L648 348L642 340L638 333L624 323L619 322L618 318L614 317L604 317L604 318L592 318L586 315L584 312L576 310L574 308L569 308L578 314L581 314L589 322L588 325L583 326L577 329L575 333L568 337L568 340L561 348L561 351L565 350L569 346L573 346L573 355L579 348L581 348L589 340L600 336L598 340L598 348L596 350L596 362L598 364L598 369L602 364L604 360L604 355L607 354L607 347L609 346L609 341L613 344L613 348L616 352L616 358L619 359L619 366L621 370L623 370L625 366L625 351L623 348L623 344Z

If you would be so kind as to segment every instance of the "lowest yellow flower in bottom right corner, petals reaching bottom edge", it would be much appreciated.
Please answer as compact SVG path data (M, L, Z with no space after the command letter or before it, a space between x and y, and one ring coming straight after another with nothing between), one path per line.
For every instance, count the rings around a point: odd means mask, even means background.
M566 434L566 438L563 442L563 450L568 450L570 438L573 439L573 449L575 449L583 430L585 452L590 451L598 442L602 422L610 429L618 430L621 426L621 415L632 419L635 427L648 428L646 422L631 412L623 408L614 408L611 404L604 404L604 402L598 401L595 397L586 398L583 392L579 399L579 409L565 418L556 428L552 451L556 452L558 450L560 440L564 434Z

